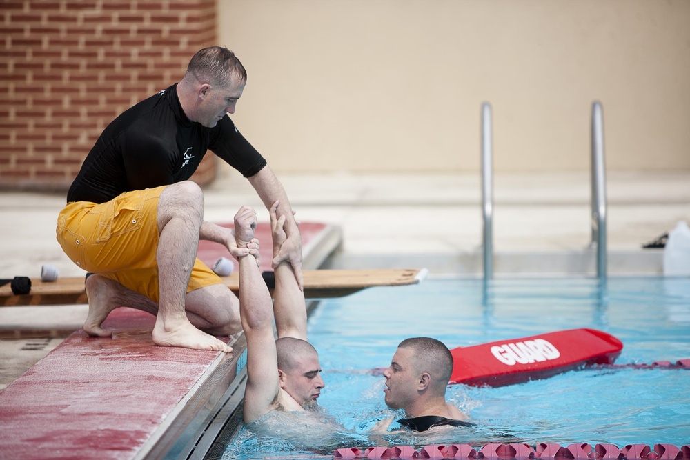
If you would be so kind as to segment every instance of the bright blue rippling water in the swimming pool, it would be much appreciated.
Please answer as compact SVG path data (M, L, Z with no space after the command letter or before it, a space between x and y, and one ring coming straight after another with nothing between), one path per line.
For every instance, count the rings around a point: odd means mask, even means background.
M690 278L431 278L324 300L308 334L326 381L319 404L337 429L305 424L300 436L299 423L284 421L272 436L275 426L263 433L242 428L226 457L330 457L344 446L450 442L690 443L690 370L660 368L573 370L502 388L453 385L446 395L473 428L417 437L373 437L363 429L397 415L384 404L384 378L371 369L388 366L407 337L435 337L455 348L572 328L618 337L624 348L617 364L690 358Z

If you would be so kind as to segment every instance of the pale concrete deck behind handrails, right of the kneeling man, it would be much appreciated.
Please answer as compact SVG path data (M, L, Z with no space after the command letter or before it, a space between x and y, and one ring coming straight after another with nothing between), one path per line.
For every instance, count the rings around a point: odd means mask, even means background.
M412 263L431 274L482 274L478 174L333 174L283 181L300 218L342 227L338 267ZM642 250L642 244L680 220L690 221L690 172L617 173L607 181L609 273L661 274L662 250ZM215 188L232 184L243 185ZM595 274L595 251L588 249L589 174L497 175L494 196L497 276Z

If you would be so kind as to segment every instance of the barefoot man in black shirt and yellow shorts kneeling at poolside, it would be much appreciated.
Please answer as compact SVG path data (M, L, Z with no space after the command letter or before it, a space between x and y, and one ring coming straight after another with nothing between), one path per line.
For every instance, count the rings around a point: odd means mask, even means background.
M84 330L109 337L108 314L128 306L157 315L159 346L230 352L214 335L239 332L239 302L196 259L199 239L234 257L233 230L204 221L204 194L189 181L210 149L242 172L264 205L279 201L286 241L273 261L288 261L302 285L302 240L285 190L228 114L247 74L227 48L197 52L179 83L137 103L103 130L67 194L57 240L86 280Z

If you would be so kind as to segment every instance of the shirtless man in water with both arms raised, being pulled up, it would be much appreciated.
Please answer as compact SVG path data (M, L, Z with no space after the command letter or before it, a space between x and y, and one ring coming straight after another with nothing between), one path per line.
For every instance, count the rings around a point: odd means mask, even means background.
M270 207L273 254L286 242L285 216L279 203ZM235 215L237 248L254 240L256 213L244 206ZM304 412L317 406L324 388L319 355L306 341L306 303L287 261L274 267L275 304L252 253L239 258L239 315L247 341L244 421L257 421L272 410ZM278 339L274 339L273 320Z

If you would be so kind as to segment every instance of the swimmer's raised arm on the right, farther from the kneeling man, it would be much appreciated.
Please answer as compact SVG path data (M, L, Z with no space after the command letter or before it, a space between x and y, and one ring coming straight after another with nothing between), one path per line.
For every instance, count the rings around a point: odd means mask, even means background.
M278 216L279 202L270 207L270 229L273 238L273 257L277 257L280 247L286 241L284 230L286 217ZM282 261L273 268L275 274L275 327L278 338L294 337L306 341L306 303L304 292L299 289L295 271L288 261Z

